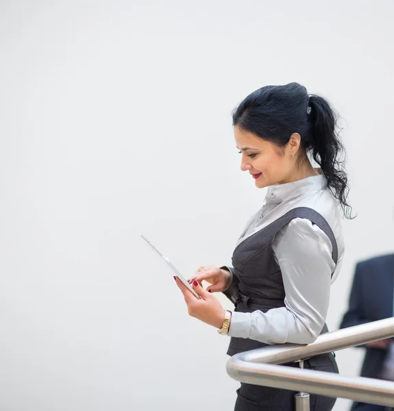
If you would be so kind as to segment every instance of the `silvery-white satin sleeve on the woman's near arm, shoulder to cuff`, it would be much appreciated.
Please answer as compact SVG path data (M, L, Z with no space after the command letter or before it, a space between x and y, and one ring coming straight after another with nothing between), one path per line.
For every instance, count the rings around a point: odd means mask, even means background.
M307 219L293 219L275 237L273 252L282 271L285 307L233 312L230 336L266 344L309 344L325 323L335 269L328 236Z

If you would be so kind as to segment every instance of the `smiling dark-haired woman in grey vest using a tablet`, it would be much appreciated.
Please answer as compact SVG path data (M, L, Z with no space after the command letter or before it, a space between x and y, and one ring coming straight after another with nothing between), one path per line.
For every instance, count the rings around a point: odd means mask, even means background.
M233 125L241 170L258 188L268 187L267 197L238 240L233 266L200 267L189 280L201 299L175 281L189 314L231 337L230 356L265 345L312 343L328 331L330 284L343 259L338 206L347 218L351 212L336 117L325 99L291 83L252 92L235 110ZM207 290L203 279L211 284ZM210 292L224 292L234 312L223 310ZM332 353L305 360L304 368L338 372ZM241 384L237 393L236 411L293 410L290 390ZM328 411L334 403L310 396L311 410Z

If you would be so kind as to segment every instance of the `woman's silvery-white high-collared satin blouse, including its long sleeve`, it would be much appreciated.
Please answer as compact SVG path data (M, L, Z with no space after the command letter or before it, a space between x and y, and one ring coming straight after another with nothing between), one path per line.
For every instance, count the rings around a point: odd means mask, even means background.
M229 336L266 344L309 344L319 336L328 312L330 285L341 270L344 253L341 215L325 177L270 186L264 206L247 223L237 245L297 207L312 208L328 222L338 245L337 264L332 260L328 236L307 219L293 219L273 242L282 271L285 307L232 312Z

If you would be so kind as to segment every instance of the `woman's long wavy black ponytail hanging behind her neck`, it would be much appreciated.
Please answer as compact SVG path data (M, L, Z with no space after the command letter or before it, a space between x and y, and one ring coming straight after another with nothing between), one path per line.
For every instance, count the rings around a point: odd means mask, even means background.
M309 97L311 149L315 162L327 179L327 185L338 199L347 219L352 219L352 207L347 203L349 186L341 154L345 154L343 145L336 133L337 116L328 101L317 95Z

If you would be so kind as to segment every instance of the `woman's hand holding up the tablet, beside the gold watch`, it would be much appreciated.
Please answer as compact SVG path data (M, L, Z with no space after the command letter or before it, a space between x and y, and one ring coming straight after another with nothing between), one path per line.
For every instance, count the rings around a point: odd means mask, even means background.
M197 299L178 277L174 278L184 295L186 305L188 306L188 314L204 323L221 329L224 319L224 310L221 303L210 292L204 290L197 281L194 280L191 285L201 297L200 299Z

